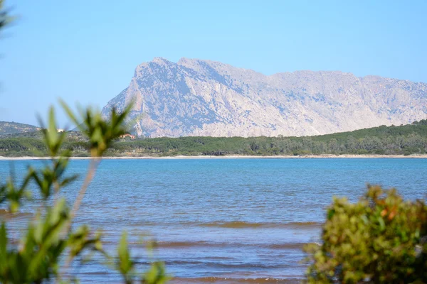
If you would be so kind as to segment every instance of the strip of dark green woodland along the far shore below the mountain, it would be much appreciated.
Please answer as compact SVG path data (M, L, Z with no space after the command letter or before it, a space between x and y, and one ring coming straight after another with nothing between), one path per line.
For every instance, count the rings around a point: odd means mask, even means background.
M41 131L0 138L0 155L45 156ZM68 131L63 150L90 155L90 143L81 132ZM427 120L404 126L379 126L351 132L306 137L180 137L117 139L105 155L321 155L427 153Z

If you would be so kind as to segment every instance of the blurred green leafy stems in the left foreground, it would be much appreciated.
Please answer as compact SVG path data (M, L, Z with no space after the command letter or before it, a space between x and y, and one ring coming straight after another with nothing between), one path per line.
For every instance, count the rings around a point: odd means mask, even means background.
M58 133L56 121L51 109L48 127L43 130L43 141L46 145L51 163L45 168L28 168L23 182L17 185L10 178L4 184L0 182L0 205L8 207L10 214L19 211L23 202L31 198L28 185L36 185L41 205L36 217L28 222L26 231L19 241L9 238L6 222L0 227L0 282L1 283L43 283L55 280L60 283L77 281L69 273L73 260L85 260L90 253L100 253L104 263L118 271L125 283L165 283L164 265L153 262L146 272L137 272L135 259L132 258L127 245L127 235L123 233L117 246L117 256L109 256L103 250L102 234L93 232L86 225L73 228L73 218L78 213L80 202L85 195L100 157L107 151L113 139L125 133L125 117L129 109L122 114L112 110L109 120L102 119L101 114L87 109L78 119L65 104L63 105L73 121L83 121L80 130L90 141L90 168L85 182L80 189L73 207L68 206L60 190L69 185L75 176L66 175L70 151L63 151L66 133ZM13 219L13 218L12 218ZM77 259L78 258L78 259ZM84 265L80 263L80 265Z

